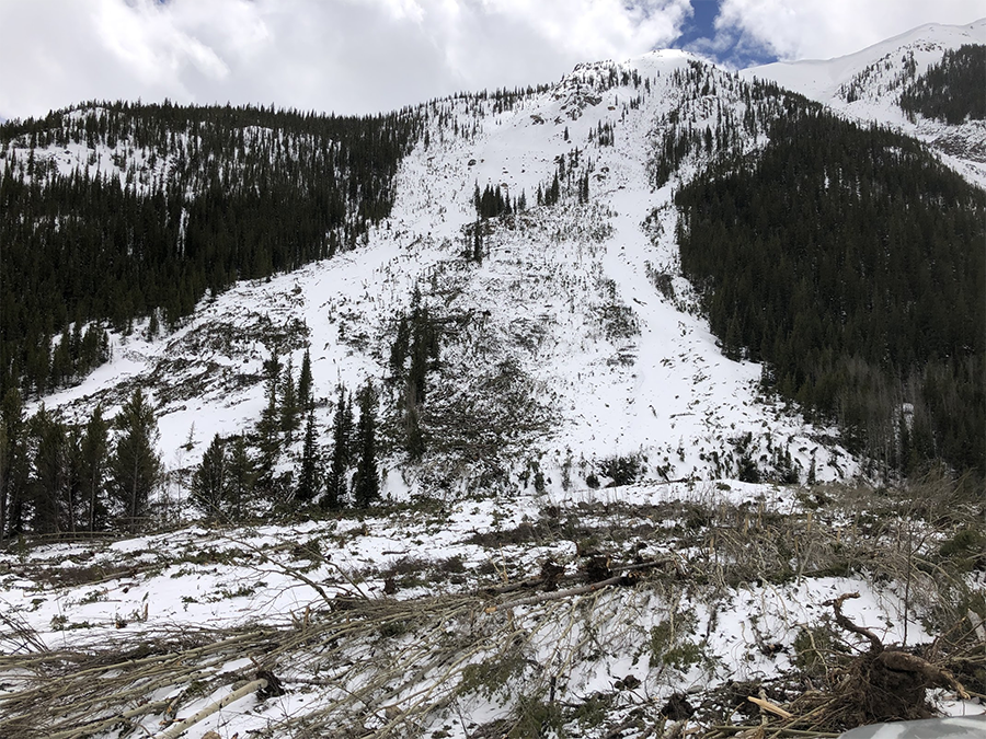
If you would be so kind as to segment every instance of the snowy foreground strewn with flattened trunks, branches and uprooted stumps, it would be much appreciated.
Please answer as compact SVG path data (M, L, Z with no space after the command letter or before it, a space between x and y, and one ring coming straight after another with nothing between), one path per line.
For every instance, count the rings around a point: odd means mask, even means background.
M707 482L13 542L0 735L824 737L981 713L983 516L940 480Z

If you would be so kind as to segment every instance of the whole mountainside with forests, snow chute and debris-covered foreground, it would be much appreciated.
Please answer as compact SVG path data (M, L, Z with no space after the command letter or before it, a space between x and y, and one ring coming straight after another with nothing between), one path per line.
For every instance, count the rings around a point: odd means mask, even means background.
M981 712L978 164L825 102L658 51L368 119L8 124L3 228L65 301L7 313L0 736ZM90 230L110 266L58 269Z

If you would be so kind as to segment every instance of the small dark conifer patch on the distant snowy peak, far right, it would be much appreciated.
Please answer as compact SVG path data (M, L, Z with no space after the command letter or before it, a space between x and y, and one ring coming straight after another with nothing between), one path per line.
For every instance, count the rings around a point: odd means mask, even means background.
M901 107L912 115L920 113L958 125L966 118L986 119L986 46L965 45L948 49L941 62L932 66L901 95Z

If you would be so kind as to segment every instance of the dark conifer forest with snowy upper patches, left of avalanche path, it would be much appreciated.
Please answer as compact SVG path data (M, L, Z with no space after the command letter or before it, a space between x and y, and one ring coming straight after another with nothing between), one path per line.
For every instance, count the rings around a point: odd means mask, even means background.
M408 111L168 102L93 102L0 125L0 150L16 152L0 162L0 392L41 393L105 361L101 322L125 331L151 315L153 333L154 309L170 327L206 291L353 249L390 212L420 128ZM92 163L96 147L119 147L124 182L88 164L41 166L42 151L71 143L92 149ZM147 171L130 150L148 154Z

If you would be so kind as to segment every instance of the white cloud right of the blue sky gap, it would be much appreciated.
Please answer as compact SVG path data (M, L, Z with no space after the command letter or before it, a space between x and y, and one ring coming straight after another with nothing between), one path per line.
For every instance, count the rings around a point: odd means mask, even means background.
M723 0L716 30L749 50L783 60L858 51L926 23L966 24L986 16L986 0Z

